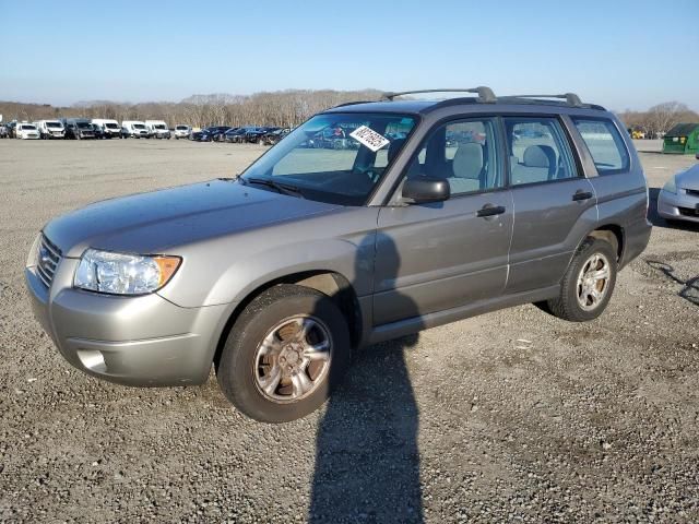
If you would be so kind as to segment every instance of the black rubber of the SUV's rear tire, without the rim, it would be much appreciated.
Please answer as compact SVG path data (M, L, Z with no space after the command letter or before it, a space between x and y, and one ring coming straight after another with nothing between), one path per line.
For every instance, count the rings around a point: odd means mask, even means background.
M579 276L588 261L595 254L601 254L608 263L609 276L603 286L604 295L599 303L584 309L579 297ZM605 240L594 237L588 237L570 261L568 271L564 276L560 286L560 294L546 302L548 311L559 319L570 322L585 322L596 319L609 303L614 286L616 284L617 274L617 253L612 245Z

